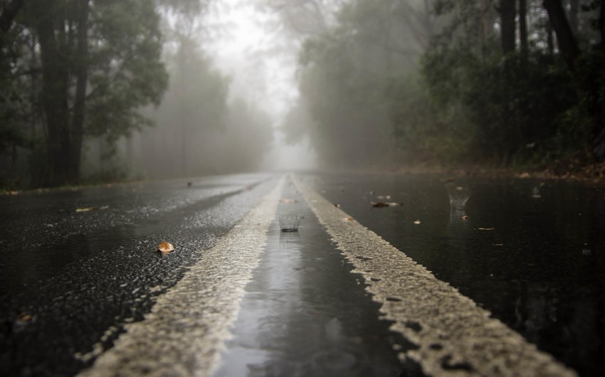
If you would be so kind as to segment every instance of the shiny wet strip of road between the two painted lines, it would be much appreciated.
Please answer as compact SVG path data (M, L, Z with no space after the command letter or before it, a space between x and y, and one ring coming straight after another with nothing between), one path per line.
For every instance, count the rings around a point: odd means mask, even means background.
M361 275L302 201L280 204L214 376L419 374L397 359L393 346L410 345L378 319ZM302 216L298 232L280 232L285 213Z

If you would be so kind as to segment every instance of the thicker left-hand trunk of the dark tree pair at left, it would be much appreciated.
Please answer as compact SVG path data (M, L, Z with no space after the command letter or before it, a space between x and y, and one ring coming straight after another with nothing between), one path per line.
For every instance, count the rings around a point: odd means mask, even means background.
M68 129L68 68L55 37L55 20L38 15L36 32L42 68L41 102L46 121L49 171L46 184L67 184L70 134Z

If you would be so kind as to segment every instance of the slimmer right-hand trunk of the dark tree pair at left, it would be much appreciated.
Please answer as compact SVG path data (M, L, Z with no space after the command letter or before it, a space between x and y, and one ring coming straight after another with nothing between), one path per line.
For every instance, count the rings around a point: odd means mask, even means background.
M71 121L70 146L70 181L80 179L80 161L82 155L82 139L84 134L85 97L88 83L88 13L90 0L78 1L78 25L73 72L75 75L75 97Z

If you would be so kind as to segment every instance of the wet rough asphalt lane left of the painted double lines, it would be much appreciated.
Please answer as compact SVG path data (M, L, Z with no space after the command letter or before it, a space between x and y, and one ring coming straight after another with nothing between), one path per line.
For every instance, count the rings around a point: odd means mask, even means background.
M180 180L0 197L0 375L71 376L90 365L275 179L218 176L190 186ZM178 253L159 255L162 240Z

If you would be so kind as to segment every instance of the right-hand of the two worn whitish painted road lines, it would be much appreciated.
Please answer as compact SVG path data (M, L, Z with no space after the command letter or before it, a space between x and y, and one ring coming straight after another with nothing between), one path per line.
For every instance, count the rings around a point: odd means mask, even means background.
M431 376L576 375L298 177L295 183L354 272L364 276L385 318L394 321L391 329L419 346L401 352L401 359L415 360Z

